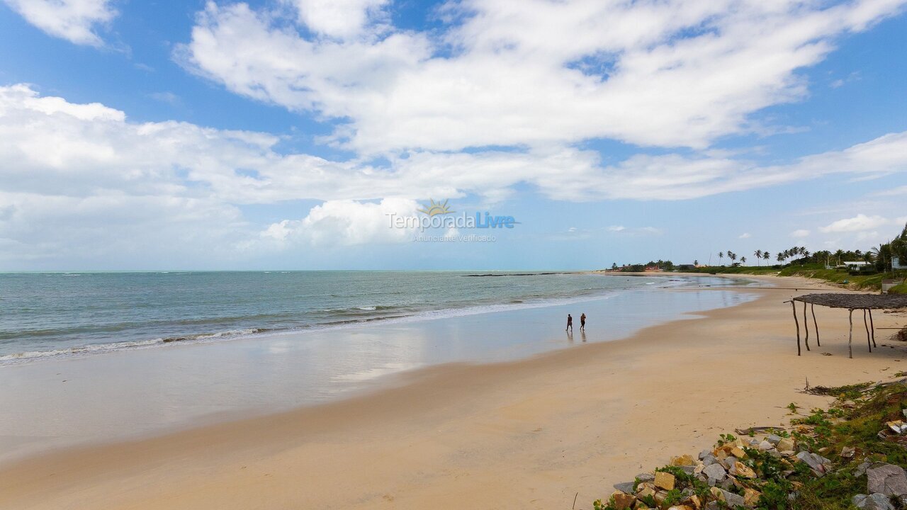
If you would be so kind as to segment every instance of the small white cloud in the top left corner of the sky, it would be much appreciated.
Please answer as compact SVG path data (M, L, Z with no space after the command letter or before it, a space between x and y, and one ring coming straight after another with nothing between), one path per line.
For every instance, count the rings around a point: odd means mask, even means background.
M28 23L73 44L101 46L96 30L117 12L111 0L4 0Z

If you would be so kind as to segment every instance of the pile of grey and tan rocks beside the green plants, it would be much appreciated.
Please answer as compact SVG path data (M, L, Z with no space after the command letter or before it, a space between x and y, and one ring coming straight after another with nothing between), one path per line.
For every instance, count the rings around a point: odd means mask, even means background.
M703 450L694 459L678 456L671 459L671 468L654 473L641 473L633 482L615 484L615 492L600 508L612 510L645 510L658 507L667 510L718 510L723 507L755 507L762 493L758 490L765 480L757 472L754 459L746 449L773 456L788 467L785 476L795 473L795 463L804 463L816 476L830 469L829 459L812 452L796 451L794 439L769 434L761 438L736 438L719 442ZM756 455L754 453L754 455ZM679 471L677 471L679 470ZM678 480L682 476L684 481ZM694 482L695 480L695 482ZM793 486L797 484L794 483ZM789 495L795 499L795 494Z

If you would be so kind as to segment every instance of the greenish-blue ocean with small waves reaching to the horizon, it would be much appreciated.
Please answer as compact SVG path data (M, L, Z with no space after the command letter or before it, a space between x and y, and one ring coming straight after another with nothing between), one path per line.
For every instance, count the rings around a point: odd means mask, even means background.
M506 271L0 274L0 364L596 299L682 279Z

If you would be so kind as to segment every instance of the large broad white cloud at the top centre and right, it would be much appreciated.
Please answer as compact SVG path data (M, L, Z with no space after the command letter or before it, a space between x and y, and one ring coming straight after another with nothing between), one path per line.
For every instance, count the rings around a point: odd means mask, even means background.
M705 148L763 131L752 113L807 93L798 70L904 4L463 0L423 34L368 29L379 3L347 2L342 23L320 1L296 4L297 21L339 39L211 2L180 61L236 93L342 119L332 140L362 154L597 138Z

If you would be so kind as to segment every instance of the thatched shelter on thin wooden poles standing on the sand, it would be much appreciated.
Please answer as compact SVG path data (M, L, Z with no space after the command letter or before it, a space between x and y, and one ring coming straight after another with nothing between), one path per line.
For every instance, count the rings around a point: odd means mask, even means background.
M794 323L796 325L796 354L800 356L800 322L796 317L796 303L803 303L803 322L806 330L806 350L809 348L809 322L806 320L806 305L809 304L810 311L813 314L813 326L815 329L815 343L819 347L819 324L815 320L814 306L828 307L832 309L847 309L850 320L850 337L847 340L847 348L850 357L853 358L853 310L863 310L863 326L866 328L866 345L869 351L873 352L875 347L875 326L873 325L873 309L902 309L907 308L907 295L904 294L843 294L828 292L824 294L806 294L792 298L789 302L794 310ZM788 302L788 301L785 301ZM866 316L869 315L867 322Z

